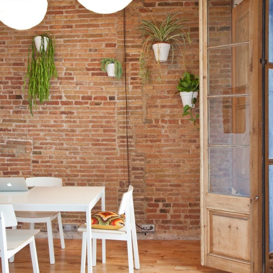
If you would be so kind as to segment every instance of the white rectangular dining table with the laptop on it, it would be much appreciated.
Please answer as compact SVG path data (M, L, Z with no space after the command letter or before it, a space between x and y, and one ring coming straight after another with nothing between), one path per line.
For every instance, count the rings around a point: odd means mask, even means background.
M34 187L25 192L0 192L0 203L12 204L16 211L86 212L88 273L92 273L91 209L100 199L105 211L105 187Z

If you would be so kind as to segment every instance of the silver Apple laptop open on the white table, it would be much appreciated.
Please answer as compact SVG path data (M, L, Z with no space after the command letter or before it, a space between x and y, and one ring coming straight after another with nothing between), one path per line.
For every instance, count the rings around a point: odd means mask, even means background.
M29 191L24 177L0 177L0 191Z

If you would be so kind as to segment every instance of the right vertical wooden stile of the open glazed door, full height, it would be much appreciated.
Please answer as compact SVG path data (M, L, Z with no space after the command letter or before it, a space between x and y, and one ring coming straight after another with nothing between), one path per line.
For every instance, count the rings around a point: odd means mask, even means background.
M262 0L250 1L250 264L262 272Z

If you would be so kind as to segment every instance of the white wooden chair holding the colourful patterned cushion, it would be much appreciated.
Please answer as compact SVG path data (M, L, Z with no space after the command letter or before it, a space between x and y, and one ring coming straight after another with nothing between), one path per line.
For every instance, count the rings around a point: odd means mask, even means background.
M96 266L96 240L97 239L111 239L111 240L122 240L127 241L127 251L128 251L128 264L129 273L134 272L133 264L133 251L132 251L132 239L133 239L133 250L135 258L135 268L139 269L139 257L138 257L138 247L137 247L137 232L135 225L135 212L133 205L133 186L129 186L126 193L123 194L121 203L119 206L118 214L124 214L126 216L125 226L121 229L110 230L110 229L95 229L92 228L92 265ZM81 268L80 272L85 273L85 263L86 263L86 225L82 224L78 231L82 231L82 258L81 258ZM106 261L105 247L102 247L102 262Z

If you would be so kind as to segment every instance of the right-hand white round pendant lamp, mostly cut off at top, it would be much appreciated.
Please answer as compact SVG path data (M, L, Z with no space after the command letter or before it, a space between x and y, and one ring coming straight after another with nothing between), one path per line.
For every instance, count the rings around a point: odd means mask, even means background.
M78 0L86 9L108 14L124 9L132 0Z

